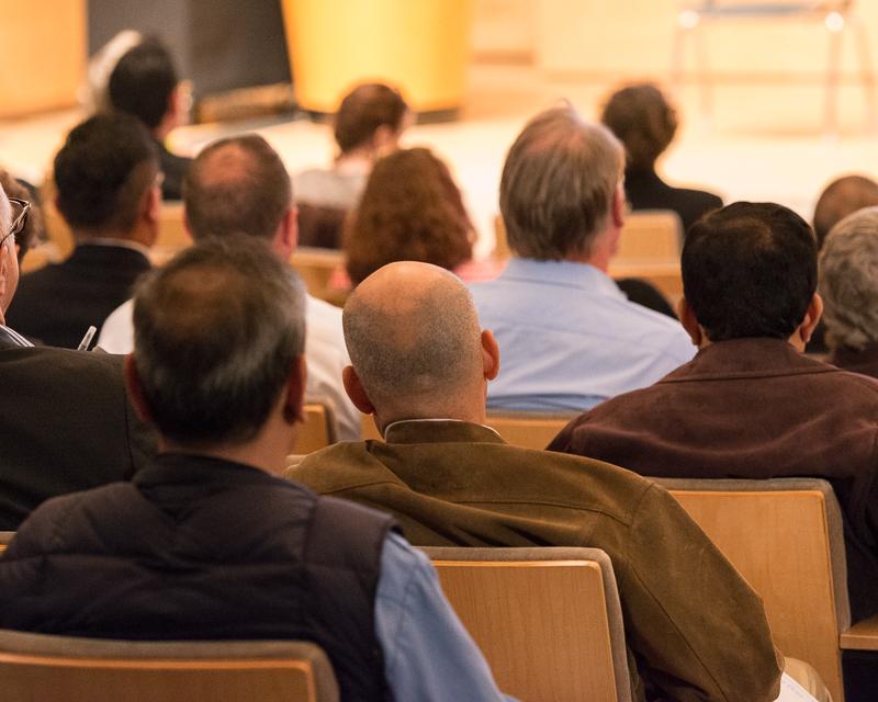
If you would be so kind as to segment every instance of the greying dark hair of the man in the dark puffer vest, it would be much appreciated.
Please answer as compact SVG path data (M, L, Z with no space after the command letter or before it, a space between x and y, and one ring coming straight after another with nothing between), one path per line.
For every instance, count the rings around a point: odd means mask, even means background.
M303 353L303 287L267 245L209 239L137 287L134 339L144 399L165 438L244 443Z

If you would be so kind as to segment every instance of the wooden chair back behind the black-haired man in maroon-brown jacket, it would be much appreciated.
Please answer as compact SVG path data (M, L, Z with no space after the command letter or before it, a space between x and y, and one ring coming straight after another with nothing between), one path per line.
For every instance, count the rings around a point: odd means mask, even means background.
M843 700L838 634L851 625L842 517L829 483L658 479L762 597L786 655Z

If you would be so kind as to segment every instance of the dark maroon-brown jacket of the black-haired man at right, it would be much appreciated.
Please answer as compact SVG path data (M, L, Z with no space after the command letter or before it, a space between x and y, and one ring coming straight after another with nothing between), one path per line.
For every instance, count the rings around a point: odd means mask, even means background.
M722 341L574 419L549 448L649 476L825 478L845 521L852 618L878 611L878 381L785 341Z

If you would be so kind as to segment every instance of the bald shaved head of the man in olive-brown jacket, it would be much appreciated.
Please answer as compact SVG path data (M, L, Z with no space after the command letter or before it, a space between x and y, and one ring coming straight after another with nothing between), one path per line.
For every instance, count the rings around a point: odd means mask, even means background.
M385 265L350 295L344 327L351 363L379 410L424 417L479 387L479 317L469 290L448 271Z

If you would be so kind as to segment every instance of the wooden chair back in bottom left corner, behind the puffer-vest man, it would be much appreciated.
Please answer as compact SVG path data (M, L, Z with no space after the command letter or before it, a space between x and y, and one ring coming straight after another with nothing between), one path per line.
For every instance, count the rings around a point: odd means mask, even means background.
M303 642L127 642L0 631L3 702L337 702Z

